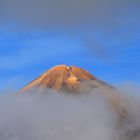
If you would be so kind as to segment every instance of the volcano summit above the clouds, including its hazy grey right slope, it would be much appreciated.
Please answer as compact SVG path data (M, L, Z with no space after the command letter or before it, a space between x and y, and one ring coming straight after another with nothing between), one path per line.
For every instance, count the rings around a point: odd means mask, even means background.
M112 88L82 68L58 65L29 83L22 91L34 87L46 87L56 91L79 92L84 90L85 85L98 89Z

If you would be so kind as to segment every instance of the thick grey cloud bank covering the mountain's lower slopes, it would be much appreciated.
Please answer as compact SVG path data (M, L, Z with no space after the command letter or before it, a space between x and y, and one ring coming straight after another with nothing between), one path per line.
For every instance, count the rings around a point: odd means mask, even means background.
M42 91L0 97L0 140L137 140L139 105L119 118L99 91L71 95ZM128 98L127 98L128 99ZM129 99L127 100L129 101Z

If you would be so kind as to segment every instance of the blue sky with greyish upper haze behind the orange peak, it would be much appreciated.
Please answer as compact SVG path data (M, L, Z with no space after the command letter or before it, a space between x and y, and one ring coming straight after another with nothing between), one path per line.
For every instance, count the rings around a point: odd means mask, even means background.
M39 1L35 1L33 7L23 5L22 1L16 5L16 2L13 0L17 8L13 13L4 11L0 16L3 21L0 24L0 90L19 89L58 64L82 67L111 84L140 83L139 2L113 0L110 8L110 2L104 6L103 0L99 4L94 0L92 4L106 12L94 6L92 14L87 12L89 0L87 3L83 0L87 5L81 14L71 14L66 8L64 12L70 14L63 14L62 5L54 4L56 10L51 11L49 22L44 20L48 18L48 14L44 15L45 7L42 13L38 12L39 7L34 9ZM32 11L28 11L28 6ZM13 8L8 1L3 7ZM20 9L29 14L24 15Z

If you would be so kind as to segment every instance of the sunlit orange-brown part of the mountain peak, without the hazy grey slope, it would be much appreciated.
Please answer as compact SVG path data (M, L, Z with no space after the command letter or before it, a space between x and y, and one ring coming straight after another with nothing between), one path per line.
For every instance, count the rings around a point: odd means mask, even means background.
M22 90L26 91L33 87L44 86L57 91L61 90L63 87L66 87L69 91L74 91L80 83L90 80L96 80L96 77L82 68L57 65L29 83Z

